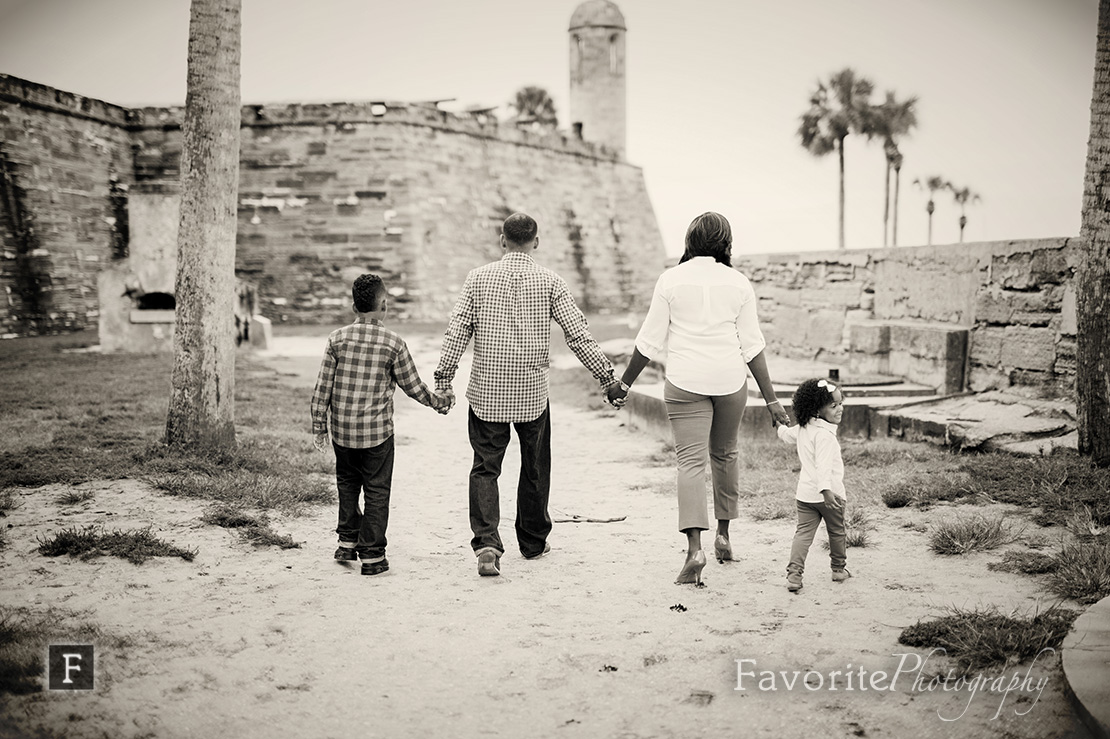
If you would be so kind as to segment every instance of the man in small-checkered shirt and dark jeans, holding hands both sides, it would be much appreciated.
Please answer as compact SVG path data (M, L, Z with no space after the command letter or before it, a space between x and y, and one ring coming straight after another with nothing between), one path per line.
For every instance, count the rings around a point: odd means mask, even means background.
M566 282L536 264L531 253L539 245L536 222L514 213L502 227L501 261L471 270L451 313L435 371L436 393L452 401L451 387L458 361L474 340L474 363L466 399L474 466L470 478L471 546L480 575L500 575L505 553L497 523L501 507L497 477L508 446L509 424L521 443L521 478L516 488L516 540L525 559L551 550L547 514L551 492L551 411L547 367L552 318L563 328L566 344L589 370L610 403L625 391L613 375L613 364L589 335L582 311Z

